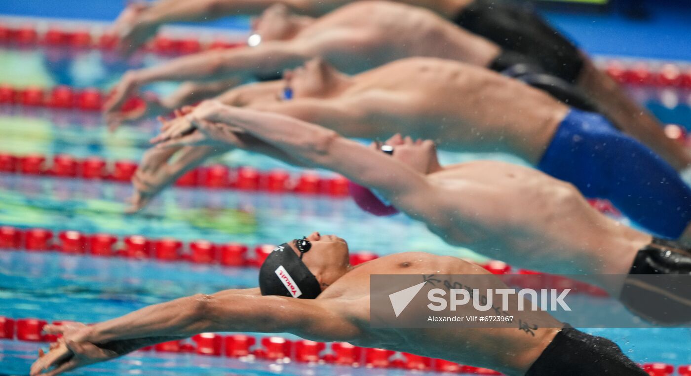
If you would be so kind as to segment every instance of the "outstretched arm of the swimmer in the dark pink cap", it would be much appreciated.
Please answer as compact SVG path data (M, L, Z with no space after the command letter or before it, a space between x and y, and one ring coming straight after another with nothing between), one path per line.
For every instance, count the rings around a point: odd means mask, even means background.
M207 104L208 122L224 123L241 129L307 165L331 169L360 185L377 189L381 195L410 216L426 223L443 225L453 213L439 192L422 173L389 158L384 153L341 137L321 126L285 115L251 109ZM194 117L195 112L190 115Z

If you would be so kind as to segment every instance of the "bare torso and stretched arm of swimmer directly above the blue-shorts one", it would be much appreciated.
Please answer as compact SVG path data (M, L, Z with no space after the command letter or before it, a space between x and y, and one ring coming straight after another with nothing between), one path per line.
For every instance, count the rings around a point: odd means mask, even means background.
M291 15L285 15L285 23ZM274 24L276 22L272 22ZM457 28L429 10L386 1L357 1L312 23L299 22L254 48L214 50L129 71L106 103L118 111L138 87L161 80L182 81L271 77L313 57L324 57L344 72L359 73L409 56L434 56L487 66L500 48ZM259 30L261 31L261 30ZM401 44L399 41L405 40Z

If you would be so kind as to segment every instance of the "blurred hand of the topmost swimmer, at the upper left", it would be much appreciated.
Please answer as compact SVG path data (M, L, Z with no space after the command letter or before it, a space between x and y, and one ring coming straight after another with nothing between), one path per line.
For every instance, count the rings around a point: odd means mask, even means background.
M146 17L146 3L132 3L120 13L113 23L113 33L120 38L117 49L124 56L129 56L151 39L158 31L158 25Z

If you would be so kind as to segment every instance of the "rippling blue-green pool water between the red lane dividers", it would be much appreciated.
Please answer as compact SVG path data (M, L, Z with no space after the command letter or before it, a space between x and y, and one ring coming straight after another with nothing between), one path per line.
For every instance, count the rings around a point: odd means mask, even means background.
M129 66L147 66L160 61L160 57L142 55L136 62L124 64L95 50L65 53L43 48L0 48L0 80L17 85L108 88ZM173 87L164 83L151 88L158 93L169 93ZM688 92L633 88L632 93L665 122L691 127ZM676 100L670 99L670 95ZM146 140L155 134L157 126L151 120L144 120L111 134L104 129L98 114L0 106L0 151L139 160L146 150ZM521 163L502 154L442 153L442 162L476 158ZM238 151L220 161L229 166L293 170L269 158ZM473 252L447 245L410 218L370 216L345 198L174 187L165 191L143 214L126 216L122 209L129 194L131 187L117 182L0 175L0 225L45 227L55 232L79 229L87 234L106 232L118 236L175 236L182 241L203 238L249 245L283 243L319 231L338 234L355 251L368 250L384 255L419 250L482 259ZM255 286L254 268L0 251L0 316L6 317L95 322L190 294ZM691 332L688 329L598 329L589 332L616 341L639 363L691 364ZM0 374L26 375L39 346L41 344L0 340ZM78 370L75 374L126 373L402 375L406 371L138 352Z

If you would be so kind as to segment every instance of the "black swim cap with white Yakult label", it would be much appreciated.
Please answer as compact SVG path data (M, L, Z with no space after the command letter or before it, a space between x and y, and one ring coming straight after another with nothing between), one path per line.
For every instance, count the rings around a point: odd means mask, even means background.
M259 270L262 295L314 299L321 294L319 281L288 243L274 248Z

